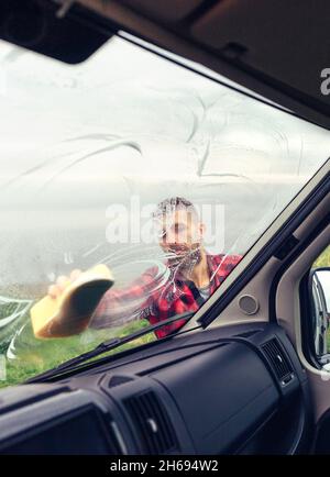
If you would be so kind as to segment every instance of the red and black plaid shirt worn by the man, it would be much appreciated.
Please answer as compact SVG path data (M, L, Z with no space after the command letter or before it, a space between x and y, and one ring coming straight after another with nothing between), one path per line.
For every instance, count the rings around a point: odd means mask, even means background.
M240 255L207 255L210 295L217 290L240 259ZM156 269L150 268L130 287L107 291L94 313L90 326L108 328L116 323L123 323L130 317L147 319L151 324L154 324L176 314L197 311L205 302L194 281L187 280L173 270L165 284L154 291L155 275ZM185 323L186 320L175 321L158 329L155 334L158 339L164 337Z

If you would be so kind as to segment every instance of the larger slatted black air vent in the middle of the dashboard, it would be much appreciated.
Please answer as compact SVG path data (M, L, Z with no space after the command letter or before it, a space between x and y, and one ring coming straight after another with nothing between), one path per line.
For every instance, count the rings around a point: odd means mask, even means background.
M179 452L174 428L166 409L154 391L144 391L124 401L135 426L143 454Z

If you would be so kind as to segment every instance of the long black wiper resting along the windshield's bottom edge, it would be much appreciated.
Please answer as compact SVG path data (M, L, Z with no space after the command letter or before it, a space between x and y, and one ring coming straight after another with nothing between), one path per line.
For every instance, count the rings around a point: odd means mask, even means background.
M193 315L195 314L195 311L189 311L182 314L176 314L173 318L168 318L167 320L161 321L160 323L152 324L147 328L143 328L142 330L139 330L134 333L129 334L128 336L122 337L113 337L109 341L103 341L102 343L98 344L95 348L82 353L72 359L66 360L65 363L62 363L61 365L56 366L55 368L48 369L45 373L42 373L38 376L34 376L33 378L29 379L26 382L33 382L37 381L40 378L46 378L54 375L57 375L58 373L67 369L72 369L76 367L77 365L87 362L88 359L91 359L96 356L99 356L103 353L107 353L109 351L116 350L117 347L130 343L131 341L134 341L141 336L144 336L145 334L152 333L153 331L156 331L163 326L166 326L167 324L174 323L178 320L186 320L188 321ZM168 334L167 336L174 336L176 333ZM166 337L167 337L166 336Z

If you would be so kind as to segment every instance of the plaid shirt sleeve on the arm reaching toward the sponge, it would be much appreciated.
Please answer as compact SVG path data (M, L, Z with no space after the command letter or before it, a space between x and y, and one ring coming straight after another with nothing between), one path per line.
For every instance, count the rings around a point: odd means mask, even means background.
M147 318L153 311L153 269L145 271L130 286L108 290L96 308L90 328L100 329L123 324L125 319Z

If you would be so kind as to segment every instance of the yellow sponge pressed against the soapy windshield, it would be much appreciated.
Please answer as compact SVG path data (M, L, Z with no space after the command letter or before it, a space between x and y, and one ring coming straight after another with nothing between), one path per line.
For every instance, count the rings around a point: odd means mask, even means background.
M30 311L34 335L63 337L80 333L113 282L109 268L100 264L68 281L59 297L44 297Z

